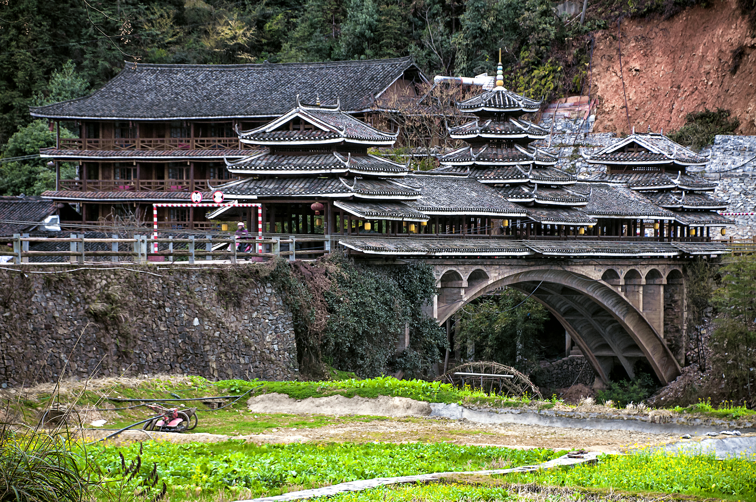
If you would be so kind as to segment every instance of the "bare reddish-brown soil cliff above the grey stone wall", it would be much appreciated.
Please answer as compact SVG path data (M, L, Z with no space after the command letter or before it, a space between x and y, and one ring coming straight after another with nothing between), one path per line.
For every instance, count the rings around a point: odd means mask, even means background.
M596 33L593 93L600 97L596 132L628 133L618 42L630 127L678 129L686 113L727 108L738 134L756 135L756 39L735 0L686 9L668 20L624 20Z

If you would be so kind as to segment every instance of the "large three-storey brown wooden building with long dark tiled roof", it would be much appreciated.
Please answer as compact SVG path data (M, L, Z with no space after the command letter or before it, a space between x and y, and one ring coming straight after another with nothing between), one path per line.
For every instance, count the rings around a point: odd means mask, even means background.
M224 159L255 153L237 129L256 129L302 101L336 102L370 122L376 99L406 95L427 82L410 57L292 64L177 65L126 63L93 94L30 113L54 127L78 129L41 150L56 166L78 163L76 179L60 179L46 197L76 204L82 222L150 220L153 203L188 202L192 191L237 178ZM199 213L199 211L197 211ZM160 208L159 225L204 228L204 212ZM79 222L80 223L80 222Z

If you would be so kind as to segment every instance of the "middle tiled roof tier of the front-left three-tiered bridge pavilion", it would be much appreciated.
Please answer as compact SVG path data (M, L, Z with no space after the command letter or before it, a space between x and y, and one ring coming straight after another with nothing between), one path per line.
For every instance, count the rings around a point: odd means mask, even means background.
M256 156L228 166L229 172L246 174L346 173L361 175L404 175L407 166L380 156L350 156L331 151L312 155L283 155L264 150ZM347 165L349 161L349 165Z

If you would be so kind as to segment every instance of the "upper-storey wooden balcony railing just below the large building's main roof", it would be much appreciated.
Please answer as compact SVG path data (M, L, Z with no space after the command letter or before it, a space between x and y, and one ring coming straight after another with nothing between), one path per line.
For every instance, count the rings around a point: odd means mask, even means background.
M60 138L65 150L240 150L239 138Z

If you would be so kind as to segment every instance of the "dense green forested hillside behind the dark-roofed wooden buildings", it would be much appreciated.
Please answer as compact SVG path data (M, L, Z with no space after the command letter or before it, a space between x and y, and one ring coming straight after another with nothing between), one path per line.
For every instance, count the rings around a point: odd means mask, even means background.
M748 8L754 0L739 2ZM669 17L696 3L592 0L581 26L549 0L5 0L0 144L30 121L29 104L83 95L115 76L124 60L237 64L412 54L430 75L472 76L494 70L503 48L510 88L578 93L593 30L621 16ZM64 69L68 60L73 68Z

